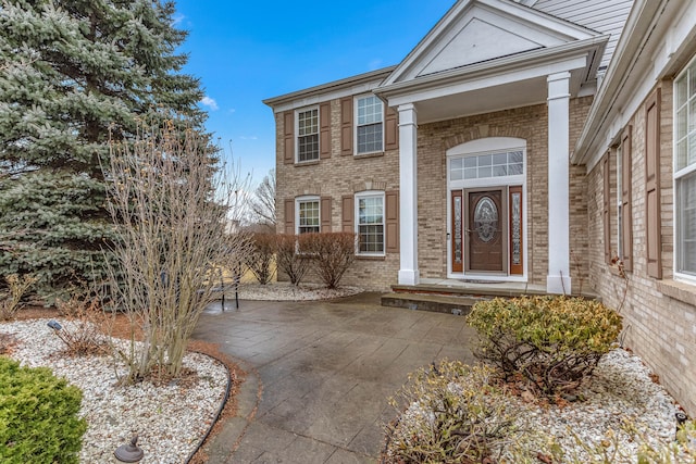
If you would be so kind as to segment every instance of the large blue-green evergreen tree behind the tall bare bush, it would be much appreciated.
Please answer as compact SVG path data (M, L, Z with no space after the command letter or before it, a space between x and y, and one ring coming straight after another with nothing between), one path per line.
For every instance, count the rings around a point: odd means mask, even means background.
M34 273L45 289L99 279L114 237L110 137L135 138L139 118L202 133L174 13L160 0L0 0L0 275Z

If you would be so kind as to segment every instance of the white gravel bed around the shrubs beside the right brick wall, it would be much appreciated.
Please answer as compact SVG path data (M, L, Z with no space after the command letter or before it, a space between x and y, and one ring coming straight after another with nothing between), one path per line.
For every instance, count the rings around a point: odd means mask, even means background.
M453 380L448 389L461 391L463 384ZM560 405L542 402L526 392L502 399L506 414L515 418L518 432L508 437L510 440L502 449L495 449L494 455L500 453L500 461L494 462L518 463L524 459L530 463L548 462L538 460L537 453L550 457L552 440L564 453L554 464L634 464L642 443L659 450L674 442L679 405L664 388L652 381L641 359L623 349L617 348L602 356L574 394L574 401ZM420 434L419 427L437 426L435 417L435 411L424 409L418 401L411 403L397 422L393 449L398 450L409 437ZM629 431L626 424L634 429ZM517 454L517 461L511 456L515 447L523 450ZM605 461L605 453L612 457ZM686 454L669 462L696 463L693 455Z

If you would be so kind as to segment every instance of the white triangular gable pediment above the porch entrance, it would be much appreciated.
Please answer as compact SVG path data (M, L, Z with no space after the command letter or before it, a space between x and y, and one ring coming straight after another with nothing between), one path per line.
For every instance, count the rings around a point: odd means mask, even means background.
M460 0L384 84L551 49L597 35L508 0Z

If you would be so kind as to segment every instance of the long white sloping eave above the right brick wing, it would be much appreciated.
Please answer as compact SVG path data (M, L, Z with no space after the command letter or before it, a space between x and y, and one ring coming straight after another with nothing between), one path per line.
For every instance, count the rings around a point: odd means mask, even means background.
M650 40L652 34L644 34L657 27L669 0L635 0L629 17L626 18L623 32L617 43L611 61L607 66L607 74L601 86L597 89L597 95L589 108L587 120L583 125L583 130L575 142L571 162L575 164L587 164L596 154L597 148L602 140L599 140L602 127L607 121L621 111L617 101L622 98L627 87L627 83L642 78L632 73L639 57ZM635 38L638 37L639 40Z

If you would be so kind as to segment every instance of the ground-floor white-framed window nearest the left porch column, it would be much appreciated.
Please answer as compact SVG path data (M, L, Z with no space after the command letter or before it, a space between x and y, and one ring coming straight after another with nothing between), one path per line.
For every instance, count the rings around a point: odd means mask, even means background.
M358 254L384 254L384 193L356 196Z

